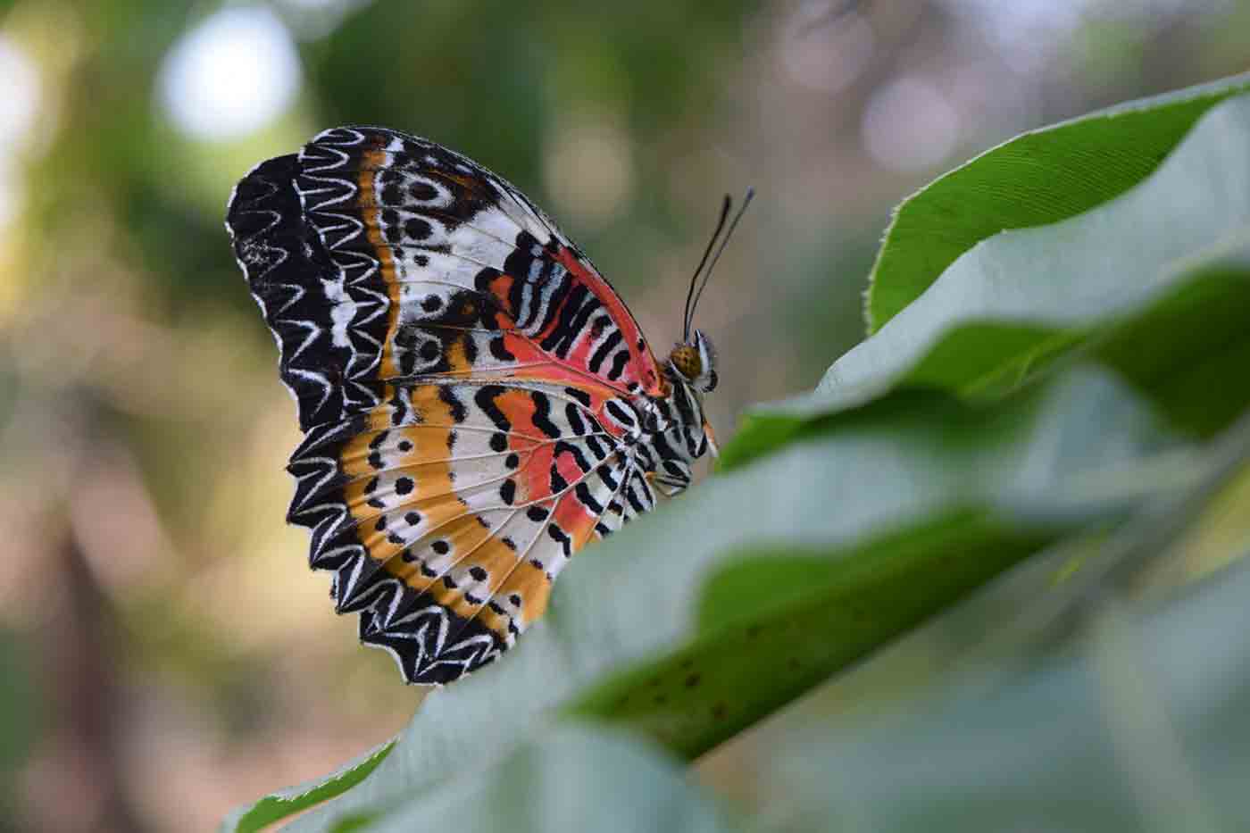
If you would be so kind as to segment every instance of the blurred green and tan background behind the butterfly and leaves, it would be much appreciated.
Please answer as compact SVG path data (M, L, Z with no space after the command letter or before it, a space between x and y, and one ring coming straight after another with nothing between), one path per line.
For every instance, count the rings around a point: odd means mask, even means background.
M1246 31L1236 0L0 1L0 829L209 829L415 707L282 523L294 405L222 229L256 161L349 121L450 145L558 218L658 353L754 185L696 319L724 438L861 338L902 196L1250 69ZM749 803L749 754L701 775Z

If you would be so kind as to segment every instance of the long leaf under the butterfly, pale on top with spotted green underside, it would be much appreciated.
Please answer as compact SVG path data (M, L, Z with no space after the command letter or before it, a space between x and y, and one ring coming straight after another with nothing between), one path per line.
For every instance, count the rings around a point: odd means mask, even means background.
M1045 540L1120 517L1141 494L1134 470L1170 442L1098 374L992 408L895 405L714 478L575 559L510 654L431 693L364 783L292 829L480 767L552 709L699 754ZM741 609L726 602L740 570L764 597ZM772 579L806 589L774 597Z

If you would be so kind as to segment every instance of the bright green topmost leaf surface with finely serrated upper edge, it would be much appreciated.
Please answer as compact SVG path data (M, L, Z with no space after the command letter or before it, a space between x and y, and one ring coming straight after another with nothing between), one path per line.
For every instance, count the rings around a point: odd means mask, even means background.
M1056 223L1129 190L1208 109L1250 75L1179 90L1034 130L930 183L895 210L870 278L869 333L961 254L1004 229Z

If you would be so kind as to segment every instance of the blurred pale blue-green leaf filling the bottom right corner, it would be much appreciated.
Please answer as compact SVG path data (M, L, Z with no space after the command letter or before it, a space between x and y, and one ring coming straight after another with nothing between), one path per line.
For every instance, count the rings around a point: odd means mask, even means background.
M784 725L769 830L1198 830L1250 818L1250 565L1166 604L1104 603L1075 657L864 725Z

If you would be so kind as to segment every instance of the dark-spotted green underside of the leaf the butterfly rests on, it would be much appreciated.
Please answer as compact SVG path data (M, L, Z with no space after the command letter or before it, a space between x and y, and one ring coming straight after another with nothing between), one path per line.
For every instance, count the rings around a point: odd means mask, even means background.
M694 758L961 599L1052 535L971 510L860 547L752 550L711 574L692 643L609 678L568 710L628 725Z

